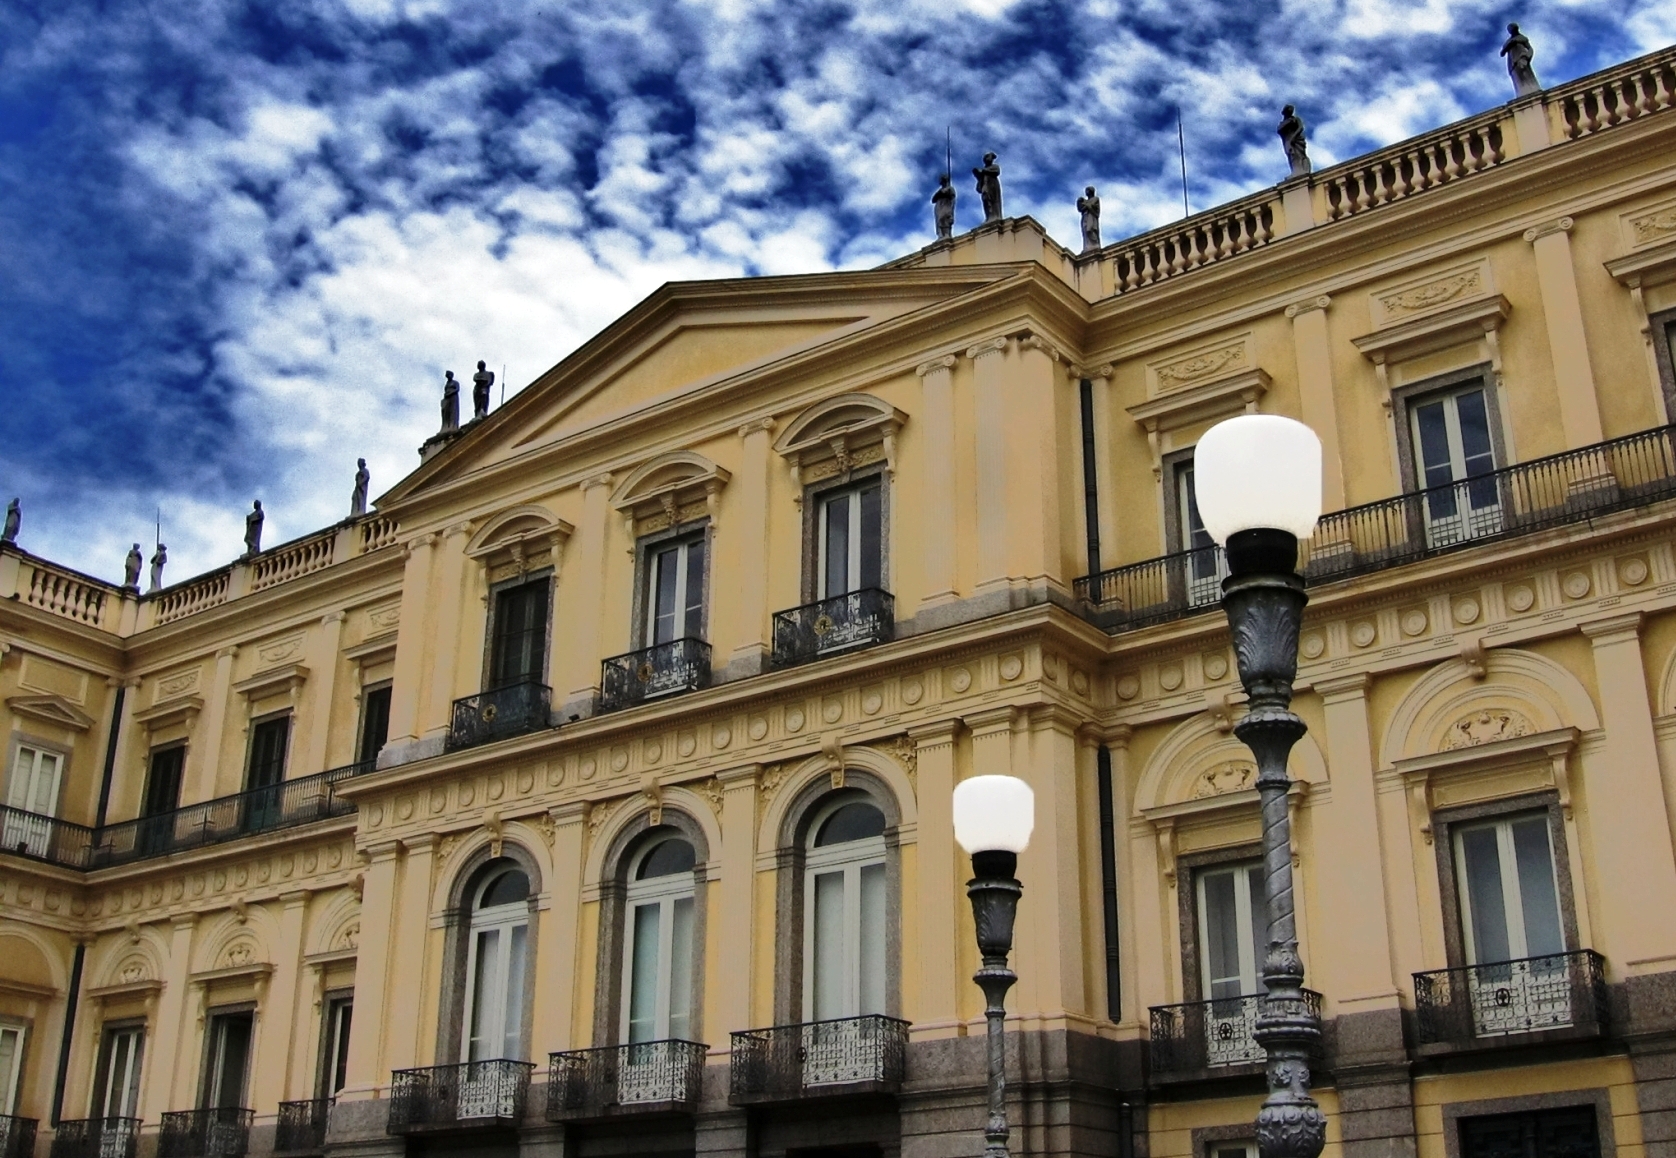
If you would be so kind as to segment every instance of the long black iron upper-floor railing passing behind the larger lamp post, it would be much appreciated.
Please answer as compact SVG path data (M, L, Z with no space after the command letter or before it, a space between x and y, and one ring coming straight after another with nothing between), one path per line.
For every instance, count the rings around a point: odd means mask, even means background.
M1676 426L1488 471L1448 486L1332 511L1301 545L1309 583L1331 583L1480 543L1676 498ZM1108 630L1213 610L1227 566L1203 546L1076 580Z

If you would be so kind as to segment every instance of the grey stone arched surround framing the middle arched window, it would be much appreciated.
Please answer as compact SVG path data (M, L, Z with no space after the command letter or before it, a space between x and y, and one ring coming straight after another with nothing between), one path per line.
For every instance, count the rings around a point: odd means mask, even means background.
M665 794L657 825L652 811L642 809L630 818L605 846L600 865L600 938L595 957L593 1044L617 1046L628 1039L627 1024L627 974L634 930L630 927L635 902L652 900L665 892L660 887L635 888L632 880L642 858L655 845L667 840L684 840L692 846L692 871L685 887L692 898L691 952L687 964L689 1017L685 1031L670 1034L687 1041L704 1041L704 943L707 925L707 881L712 876L711 838L706 826L687 809L672 806ZM644 897L637 893L645 893ZM670 897L679 890L669 888ZM672 932L664 930L664 932Z

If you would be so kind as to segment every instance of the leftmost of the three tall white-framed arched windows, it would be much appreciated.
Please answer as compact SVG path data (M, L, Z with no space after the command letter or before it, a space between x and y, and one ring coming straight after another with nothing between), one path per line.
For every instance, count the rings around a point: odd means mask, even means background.
M530 876L493 866L471 893L466 949L466 1032L461 1061L523 1061L525 970L530 955Z

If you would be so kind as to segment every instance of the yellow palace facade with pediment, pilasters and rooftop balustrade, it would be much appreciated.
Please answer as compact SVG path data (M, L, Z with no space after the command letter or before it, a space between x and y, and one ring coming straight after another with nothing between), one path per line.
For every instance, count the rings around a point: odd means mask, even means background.
M1326 447L1329 1158L1676 1153L1676 54L1073 255L669 285L374 513L0 545L0 1151L974 1155L950 791L1036 793L1014 1151L1245 1158L1192 456Z

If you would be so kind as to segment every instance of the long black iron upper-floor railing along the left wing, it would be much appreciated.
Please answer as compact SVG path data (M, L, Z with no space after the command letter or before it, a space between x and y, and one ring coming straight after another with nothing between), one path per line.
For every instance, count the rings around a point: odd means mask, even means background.
M355 806L339 798L337 786L352 776L370 773L372 768L372 761L345 764L104 828L72 825L18 808L0 808L0 851L69 868L109 868L277 828L312 825L317 819L354 813Z

